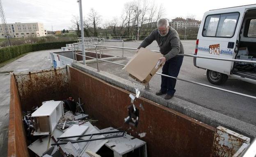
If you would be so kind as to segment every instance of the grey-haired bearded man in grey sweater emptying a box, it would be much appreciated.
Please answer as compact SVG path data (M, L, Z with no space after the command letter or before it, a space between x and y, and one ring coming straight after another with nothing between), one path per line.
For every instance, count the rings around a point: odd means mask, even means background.
M157 29L153 30L152 33L139 45L146 47L151 44L154 40L158 43L160 52L164 55L160 57L162 63L165 63L162 67L162 74L177 77L181 69L184 49L179 38L177 31L169 27L169 22L166 18L161 18L157 22ZM156 95L165 95L165 99L169 100L174 96L176 79L170 77L162 77L161 89Z

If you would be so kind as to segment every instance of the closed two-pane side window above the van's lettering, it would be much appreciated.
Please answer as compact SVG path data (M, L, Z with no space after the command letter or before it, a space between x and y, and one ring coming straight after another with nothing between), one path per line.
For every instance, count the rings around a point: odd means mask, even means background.
M239 13L209 15L203 27L203 36L232 38Z

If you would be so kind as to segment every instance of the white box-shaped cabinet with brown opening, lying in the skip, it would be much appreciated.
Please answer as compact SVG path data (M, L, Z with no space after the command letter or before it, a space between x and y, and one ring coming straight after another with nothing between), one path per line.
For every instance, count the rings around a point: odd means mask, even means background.
M32 135L49 135L57 126L57 122L64 114L62 101L44 102L31 117L34 118L35 131Z

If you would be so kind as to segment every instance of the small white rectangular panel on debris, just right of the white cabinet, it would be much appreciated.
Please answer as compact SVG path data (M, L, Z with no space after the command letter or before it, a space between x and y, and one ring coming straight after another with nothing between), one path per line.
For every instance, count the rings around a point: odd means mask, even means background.
M60 137L69 137L69 136L77 136L77 135L82 135L85 133L85 131L89 128L89 126L83 126L83 125L76 125L73 124L67 130L60 136ZM73 138L68 138L65 140L68 141L76 141L78 140L79 137L73 137Z

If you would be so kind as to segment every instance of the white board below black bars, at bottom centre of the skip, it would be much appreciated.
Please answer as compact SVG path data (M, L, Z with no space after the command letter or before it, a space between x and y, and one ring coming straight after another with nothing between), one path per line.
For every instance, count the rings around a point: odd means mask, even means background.
M112 127L105 128L101 130L101 133L109 132L109 131L117 131ZM119 155L124 155L134 149L137 149L142 146L146 146L146 142L134 138L131 135L125 134L123 137L108 139L108 142L105 144L108 148L117 152Z

